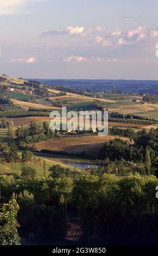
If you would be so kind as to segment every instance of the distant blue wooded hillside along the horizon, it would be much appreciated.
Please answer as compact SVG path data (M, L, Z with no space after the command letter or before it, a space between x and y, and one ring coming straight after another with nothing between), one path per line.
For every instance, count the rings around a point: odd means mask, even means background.
M26 79L27 80L27 79ZM50 80L35 79L42 84L56 84L83 90L94 90L97 92L112 92L119 89L122 93L158 93L158 81L143 80Z

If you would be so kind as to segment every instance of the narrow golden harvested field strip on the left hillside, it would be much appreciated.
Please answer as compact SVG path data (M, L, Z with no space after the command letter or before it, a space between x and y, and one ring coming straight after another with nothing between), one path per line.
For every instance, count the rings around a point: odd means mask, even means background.
M20 101L20 100L15 100L15 99L11 99L11 101L15 105L20 105L22 107L32 107L32 108L40 108L40 109L60 109L60 107L53 107L53 106L49 106L49 105L40 105L40 104L36 104L36 103L25 102L25 101Z

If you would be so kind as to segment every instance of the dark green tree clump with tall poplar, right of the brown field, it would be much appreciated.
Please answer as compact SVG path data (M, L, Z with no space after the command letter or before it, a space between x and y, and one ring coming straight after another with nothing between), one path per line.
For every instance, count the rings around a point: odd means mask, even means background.
M120 132L116 127L110 131L113 135ZM146 163L147 173L151 172L157 175L158 128L150 129L149 132L146 129L137 133L131 129L123 130L123 132L130 138L130 141L115 138L106 142L100 151L100 158L110 161L123 159L130 162Z

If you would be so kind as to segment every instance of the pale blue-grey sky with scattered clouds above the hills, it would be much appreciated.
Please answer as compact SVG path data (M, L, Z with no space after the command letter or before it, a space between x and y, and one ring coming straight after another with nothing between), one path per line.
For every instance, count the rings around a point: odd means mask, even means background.
M0 0L0 27L0 74L158 80L156 0Z

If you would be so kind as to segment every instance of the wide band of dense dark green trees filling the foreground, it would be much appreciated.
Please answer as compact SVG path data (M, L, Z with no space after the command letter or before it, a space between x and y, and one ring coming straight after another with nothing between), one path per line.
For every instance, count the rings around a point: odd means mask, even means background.
M34 244L61 242L73 213L80 219L85 244L157 245L157 183L155 176L139 174L71 178L59 166L53 178L0 176L4 200L14 191L18 195L19 234Z

